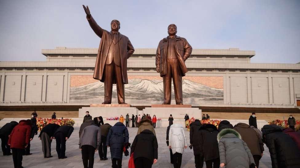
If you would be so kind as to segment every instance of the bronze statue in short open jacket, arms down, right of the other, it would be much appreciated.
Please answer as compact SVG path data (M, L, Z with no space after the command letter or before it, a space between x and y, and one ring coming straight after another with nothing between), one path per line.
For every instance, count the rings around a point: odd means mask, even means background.
M188 72L185 60L192 53L192 47L185 38L176 36L175 24L168 26L169 36L160 40L156 50L156 71L164 81L164 103L171 104L171 83L173 78L176 104L183 104L182 77Z

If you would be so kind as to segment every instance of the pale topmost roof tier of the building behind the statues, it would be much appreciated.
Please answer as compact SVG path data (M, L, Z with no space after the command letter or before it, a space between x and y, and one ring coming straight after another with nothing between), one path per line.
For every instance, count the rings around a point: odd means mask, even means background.
M42 54L45 56L52 54L97 54L98 48L67 48L56 47L56 49L42 49ZM135 55L155 55L155 48L136 48ZM255 55L255 51L239 50L239 48L229 49L193 49L193 55L232 55L232 56L249 56L250 58Z

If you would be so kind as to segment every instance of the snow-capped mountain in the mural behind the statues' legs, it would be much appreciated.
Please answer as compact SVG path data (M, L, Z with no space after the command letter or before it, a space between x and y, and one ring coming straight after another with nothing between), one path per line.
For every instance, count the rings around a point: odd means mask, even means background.
M147 76L144 78L147 78ZM220 77L219 80L222 80L223 84L223 77ZM73 84L72 86L71 78L70 103L102 103L104 101L104 83L96 80L90 82L92 83L85 84L86 82L83 82L84 85L78 86L80 84L77 81L77 84ZM185 104L223 103L223 88L213 88L195 81L183 79L182 90ZM125 102L140 105L159 104L163 102L163 92L164 85L162 78L161 80L153 78L128 78L128 84L125 84ZM115 84L113 85L112 97L112 103L117 103ZM175 103L173 84L172 103Z

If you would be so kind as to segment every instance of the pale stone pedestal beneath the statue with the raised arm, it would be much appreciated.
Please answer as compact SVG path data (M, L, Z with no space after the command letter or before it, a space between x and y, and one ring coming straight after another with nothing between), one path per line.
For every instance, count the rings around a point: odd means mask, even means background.
M82 107L79 109L78 117L85 116L85 112L89 111L89 114L94 117L102 116L103 118L120 117L126 114L131 117L132 114L137 115L138 109L131 107L130 104L91 104L90 107Z

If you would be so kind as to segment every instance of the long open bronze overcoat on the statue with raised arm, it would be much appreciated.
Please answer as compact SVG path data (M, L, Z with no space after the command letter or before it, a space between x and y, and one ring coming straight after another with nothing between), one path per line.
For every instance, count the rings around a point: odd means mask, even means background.
M101 38L93 78L104 82L105 79L103 71L109 47L113 42L113 34L112 32L102 29L92 16L88 19L88 21L93 31ZM119 33L119 48L122 68L122 81L124 84L128 84L127 59L133 54L134 48L128 37L122 35L121 33ZM114 81L113 83L115 84L116 82Z

